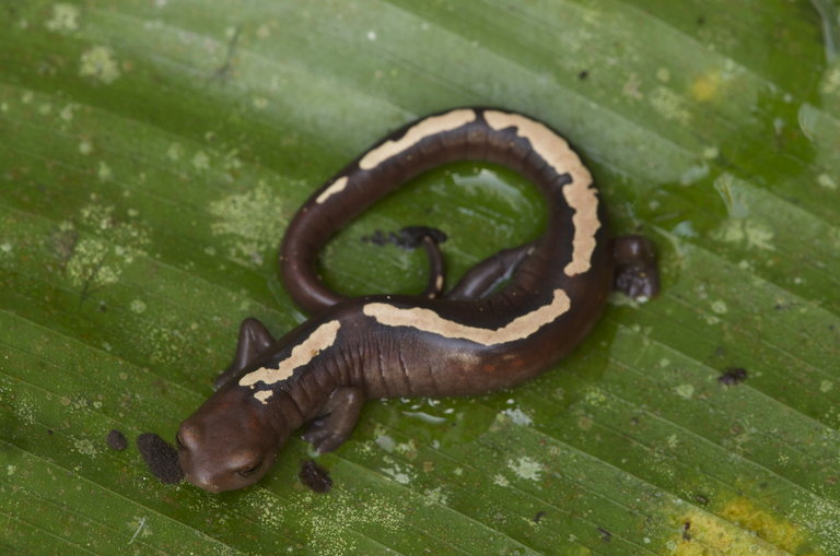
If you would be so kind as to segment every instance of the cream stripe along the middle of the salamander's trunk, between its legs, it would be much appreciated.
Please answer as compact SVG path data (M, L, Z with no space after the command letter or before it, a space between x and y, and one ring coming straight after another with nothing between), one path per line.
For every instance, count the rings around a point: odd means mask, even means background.
M444 338L469 340L481 345L497 345L523 340L557 320L570 307L569 296L563 289L555 289L551 303L514 318L508 324L497 328L478 328L448 320L431 309L420 307L402 309L386 303L372 303L362 311L386 327L409 327Z

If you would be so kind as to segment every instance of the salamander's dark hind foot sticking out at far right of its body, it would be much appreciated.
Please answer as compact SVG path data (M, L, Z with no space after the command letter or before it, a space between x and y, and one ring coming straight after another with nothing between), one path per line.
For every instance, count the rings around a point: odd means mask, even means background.
M633 299L650 299L660 293L660 269L653 242L643 236L612 240L616 262L614 287Z

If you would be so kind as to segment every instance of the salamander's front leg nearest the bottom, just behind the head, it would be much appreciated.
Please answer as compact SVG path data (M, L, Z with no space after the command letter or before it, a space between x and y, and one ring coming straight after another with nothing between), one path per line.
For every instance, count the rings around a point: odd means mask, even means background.
M320 409L319 416L310 423L303 439L319 453L331 452L350 437L363 403L361 388L336 388Z

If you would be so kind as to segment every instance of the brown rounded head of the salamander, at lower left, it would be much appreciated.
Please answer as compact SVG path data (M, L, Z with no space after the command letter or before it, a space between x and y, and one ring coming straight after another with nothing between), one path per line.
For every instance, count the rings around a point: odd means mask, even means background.
M222 389L180 424L175 442L187 481L221 493L262 478L289 431L254 403L247 391Z

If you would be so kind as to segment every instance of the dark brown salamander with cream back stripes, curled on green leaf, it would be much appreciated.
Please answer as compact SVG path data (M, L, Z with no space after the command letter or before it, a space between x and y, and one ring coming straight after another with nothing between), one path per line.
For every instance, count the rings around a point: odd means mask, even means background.
M421 295L348 298L320 282L318 253L338 229L412 177L454 161L497 163L528 178L549 208L545 233L479 262L445 293L434 234L421 241L432 262ZM259 481L304 424L303 438L317 451L335 450L365 400L520 385L583 340L614 283L634 297L658 289L651 242L611 238L593 178L567 141L546 123L497 108L446 110L385 137L303 204L279 263L290 295L313 317L277 340L246 319L218 390L176 436L186 478L213 493Z

